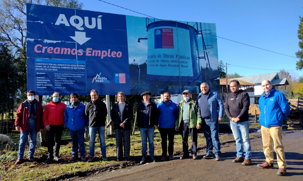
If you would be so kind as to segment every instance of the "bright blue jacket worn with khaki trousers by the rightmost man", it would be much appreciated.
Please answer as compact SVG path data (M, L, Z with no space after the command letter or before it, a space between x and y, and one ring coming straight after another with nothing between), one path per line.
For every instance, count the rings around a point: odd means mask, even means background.
M286 119L290 107L286 97L281 92L272 89L265 95L265 92L259 99L260 117L259 122L261 126L282 126L283 119Z

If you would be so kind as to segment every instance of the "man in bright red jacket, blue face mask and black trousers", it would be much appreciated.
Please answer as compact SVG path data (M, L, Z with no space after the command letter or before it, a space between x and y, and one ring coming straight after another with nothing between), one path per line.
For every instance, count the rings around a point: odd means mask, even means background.
M59 157L60 142L64 125L64 112L66 104L61 102L61 95L58 92L53 93L53 100L46 104L43 115L43 123L47 132L47 151L48 158L44 163L51 163L53 159L61 161ZM55 139L55 153L53 144ZM54 154L54 156L53 156Z

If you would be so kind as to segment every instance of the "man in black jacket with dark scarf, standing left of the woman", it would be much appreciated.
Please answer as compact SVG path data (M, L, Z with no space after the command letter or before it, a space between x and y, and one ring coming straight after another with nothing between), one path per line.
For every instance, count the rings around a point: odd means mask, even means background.
M105 103L98 99L98 97L98 91L93 89L91 91L92 100L85 106L85 114L89 120L89 159L87 162L91 162L95 157L95 140L97 131L100 138L102 159L107 160L105 146L105 119L107 116L107 109Z

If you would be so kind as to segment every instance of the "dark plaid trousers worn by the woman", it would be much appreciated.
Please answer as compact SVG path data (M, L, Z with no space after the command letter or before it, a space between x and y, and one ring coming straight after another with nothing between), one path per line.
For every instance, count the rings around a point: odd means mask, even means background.
M123 156L123 145L124 156L129 157L129 154L131 152L131 130L115 129L115 137L117 158L121 158Z

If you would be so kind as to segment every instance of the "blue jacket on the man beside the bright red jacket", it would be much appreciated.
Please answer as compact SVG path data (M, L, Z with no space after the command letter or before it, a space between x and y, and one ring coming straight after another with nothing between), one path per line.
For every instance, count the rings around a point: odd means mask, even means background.
M64 123L66 128L71 131L84 129L85 126L88 126L88 119L85 115L85 105L80 103L79 106L73 108L72 103L70 103L65 108Z

